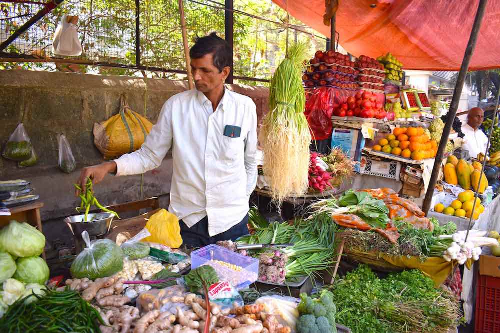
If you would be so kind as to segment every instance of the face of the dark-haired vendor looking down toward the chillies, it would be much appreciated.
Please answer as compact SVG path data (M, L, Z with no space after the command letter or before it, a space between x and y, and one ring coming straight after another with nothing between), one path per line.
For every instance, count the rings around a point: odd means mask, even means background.
M191 59L194 85L201 92L209 92L224 84L229 71L230 67L224 67L222 71L219 71L213 64L213 55L211 53L205 54L201 58Z

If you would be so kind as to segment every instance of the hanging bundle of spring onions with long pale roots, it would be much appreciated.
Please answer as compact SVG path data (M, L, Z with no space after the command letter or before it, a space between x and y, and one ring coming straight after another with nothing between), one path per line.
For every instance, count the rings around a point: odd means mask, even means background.
M269 184L271 199L277 204L305 193L308 186L311 136L303 113L305 93L302 86L306 57L306 44L296 43L276 68L269 89L270 111L259 132L264 157L262 171Z

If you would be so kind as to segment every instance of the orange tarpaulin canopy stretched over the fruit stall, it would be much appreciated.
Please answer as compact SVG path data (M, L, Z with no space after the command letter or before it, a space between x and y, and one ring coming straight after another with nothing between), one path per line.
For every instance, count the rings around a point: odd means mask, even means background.
M329 37L324 0L272 0ZM376 4L374 8L370 4ZM349 53L392 53L404 69L460 69L479 0L339 0L335 30ZM469 70L500 67L500 0L489 0Z

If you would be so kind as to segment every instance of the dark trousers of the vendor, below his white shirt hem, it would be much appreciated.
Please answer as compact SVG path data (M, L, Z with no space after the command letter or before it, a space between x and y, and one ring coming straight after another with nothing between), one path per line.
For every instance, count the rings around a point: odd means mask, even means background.
M247 223L248 214L246 214L238 224L220 234L210 237L208 235L208 217L205 216L191 228L187 227L184 221L180 220L179 225L182 246L186 248L200 248L209 244L214 244L217 241L234 241L236 238L248 234Z

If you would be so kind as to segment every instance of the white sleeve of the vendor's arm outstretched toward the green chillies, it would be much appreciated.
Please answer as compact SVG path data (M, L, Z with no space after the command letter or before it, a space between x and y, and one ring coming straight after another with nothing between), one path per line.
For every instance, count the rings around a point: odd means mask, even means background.
M114 160L116 175L136 175L159 167L171 146L172 106L167 100L161 108L158 121L151 128L142 146Z

